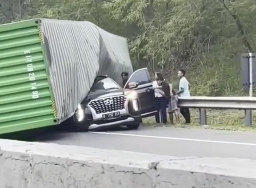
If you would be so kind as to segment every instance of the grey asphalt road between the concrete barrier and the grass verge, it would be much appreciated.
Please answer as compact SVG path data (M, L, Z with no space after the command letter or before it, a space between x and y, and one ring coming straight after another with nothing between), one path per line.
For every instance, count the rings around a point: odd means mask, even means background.
M97 132L49 129L29 141L136 151L178 157L256 159L256 133L170 127L124 128Z

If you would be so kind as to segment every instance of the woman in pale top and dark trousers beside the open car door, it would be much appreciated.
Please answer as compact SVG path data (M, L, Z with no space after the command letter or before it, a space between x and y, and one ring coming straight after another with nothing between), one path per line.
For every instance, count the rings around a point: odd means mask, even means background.
M166 115L166 105L168 103L168 96L170 92L166 90L166 85L168 84L165 82L161 73L155 73L156 81L153 83L153 88L155 89L156 94L156 123L160 122L159 112L161 114L162 123L167 123L167 115Z

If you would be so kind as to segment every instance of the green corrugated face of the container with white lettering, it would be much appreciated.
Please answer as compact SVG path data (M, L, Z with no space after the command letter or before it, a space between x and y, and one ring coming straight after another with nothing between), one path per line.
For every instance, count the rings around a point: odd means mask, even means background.
M0 133L57 123L39 21L0 26Z

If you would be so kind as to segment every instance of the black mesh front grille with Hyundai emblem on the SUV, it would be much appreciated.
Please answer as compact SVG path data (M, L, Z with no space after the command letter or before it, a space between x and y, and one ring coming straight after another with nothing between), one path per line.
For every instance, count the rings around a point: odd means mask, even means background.
M125 96L115 96L104 99L93 100L89 103L96 113L106 113L116 110L122 110L125 108Z

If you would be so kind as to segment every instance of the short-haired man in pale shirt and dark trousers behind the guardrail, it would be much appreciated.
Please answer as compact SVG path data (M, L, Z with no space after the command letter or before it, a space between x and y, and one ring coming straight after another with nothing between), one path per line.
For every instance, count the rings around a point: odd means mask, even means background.
M180 69L178 72L178 77L180 78L180 85L179 85L179 94L180 97L190 97L189 92L189 82L185 78L185 71L183 69ZM186 119L186 123L190 123L190 112L189 108L180 108L180 113L183 115L183 117Z

